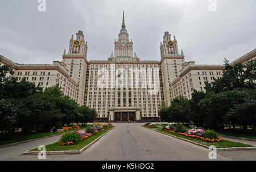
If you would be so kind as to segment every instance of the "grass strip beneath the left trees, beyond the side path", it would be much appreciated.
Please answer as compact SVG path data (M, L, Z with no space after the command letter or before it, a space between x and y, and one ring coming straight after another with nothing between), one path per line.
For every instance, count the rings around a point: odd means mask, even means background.
M21 134L21 133L19 133ZM50 132L50 133L32 133L30 135L24 136L24 135L16 135L14 136L13 139L11 140L6 140L6 141L0 141L0 146L6 145L6 144L11 144L14 142L19 142L19 141L26 141L26 140L31 140L31 139L38 139L41 137L46 137L46 136L51 136L51 135L56 135L59 134L59 132Z

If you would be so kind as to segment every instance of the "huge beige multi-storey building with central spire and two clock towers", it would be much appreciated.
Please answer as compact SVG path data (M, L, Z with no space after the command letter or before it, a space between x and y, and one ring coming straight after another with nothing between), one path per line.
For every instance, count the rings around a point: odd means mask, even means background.
M224 65L196 65L185 62L176 37L164 32L160 43L160 61L140 60L133 52L133 41L123 14L114 53L107 60L87 60L88 45L82 31L71 36L62 61L52 65L16 64L0 56L1 64L10 65L14 76L46 87L58 85L81 105L94 108L98 121L159 120L162 101L168 105L179 96L191 99L194 90L204 91L204 82L222 76ZM231 63L255 58L256 49Z

